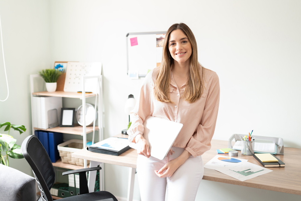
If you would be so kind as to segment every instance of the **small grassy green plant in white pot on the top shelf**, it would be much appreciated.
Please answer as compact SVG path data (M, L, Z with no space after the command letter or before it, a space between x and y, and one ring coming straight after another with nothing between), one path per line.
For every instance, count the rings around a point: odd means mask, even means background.
M45 69L39 71L39 75L44 79L46 82L46 90L48 92L54 92L57 87L57 79L62 74L61 71L56 69Z

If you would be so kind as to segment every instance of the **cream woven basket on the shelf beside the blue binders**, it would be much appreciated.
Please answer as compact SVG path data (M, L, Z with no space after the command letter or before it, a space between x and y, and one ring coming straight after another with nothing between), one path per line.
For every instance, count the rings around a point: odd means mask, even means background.
M84 159L78 159L71 157L73 152L77 152L83 149L83 141L82 140L68 140L64 143L57 145L58 152L60 153L60 157L63 163L69 163L72 165L84 166ZM87 160L87 165L90 163Z

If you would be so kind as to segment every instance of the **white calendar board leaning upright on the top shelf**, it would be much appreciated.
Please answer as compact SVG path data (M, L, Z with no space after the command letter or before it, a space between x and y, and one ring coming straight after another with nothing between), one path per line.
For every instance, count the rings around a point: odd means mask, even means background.
M101 75L101 62L68 62L64 91L82 91L82 76ZM97 92L97 78L85 79L85 91Z

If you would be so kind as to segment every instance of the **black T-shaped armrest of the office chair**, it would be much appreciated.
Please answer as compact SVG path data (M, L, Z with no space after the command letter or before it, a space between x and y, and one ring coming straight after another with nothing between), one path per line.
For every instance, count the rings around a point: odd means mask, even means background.
M95 171L95 170L101 170L101 167L71 170L71 171L63 172L63 175L79 173L79 194L81 195L81 194L89 193L86 172Z

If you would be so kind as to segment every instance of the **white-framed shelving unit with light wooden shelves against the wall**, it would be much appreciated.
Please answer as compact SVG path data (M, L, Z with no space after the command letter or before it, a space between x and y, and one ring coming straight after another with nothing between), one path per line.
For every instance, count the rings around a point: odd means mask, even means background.
M55 96L55 97L64 97L64 98L78 98L82 100L82 105L83 105L83 113L85 114L86 111L86 98L89 97L95 97L95 109L98 105L98 126L95 126L95 119L93 122L93 126L85 126L85 118L83 121L84 126L80 126L79 124L76 124L74 127L54 127L54 128L48 128L48 129L41 129L41 128L36 128L33 127L32 123L32 130L33 130L33 135L35 130L45 130L45 131L51 131L51 132L58 132L58 133L69 133L69 134L74 134L74 135L81 135L83 136L83 144L84 147L87 144L87 133L92 133L93 132L93 138L92 142L94 143L94 136L95 136L95 130L98 130L98 139L99 141L103 140L103 110L102 110L102 75L100 76L83 76L82 77L82 93L77 93L77 92L64 92L64 91L55 91L55 92L47 92L47 91L42 91L42 92L34 92L34 78L35 77L40 77L38 74L30 75L30 91L31 91L31 104L33 104L33 96ZM86 79L91 79L91 78L98 78L98 93L85 93L85 80ZM33 114L33 105L31 105L31 112ZM33 115L32 115L32 122L33 122ZM87 165L87 160L84 160L84 167L82 166L77 166L77 165L72 165L72 164L67 164L61 162L61 159L59 159L57 162L52 163L54 167L60 167L60 168L67 168L67 169L72 169L72 170L77 170L81 168L87 168L89 167ZM101 165L103 168L103 165ZM100 190L104 190L104 171L101 171L100 176ZM56 198L57 199L57 198Z

